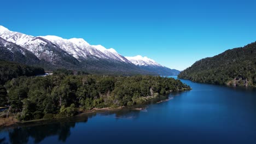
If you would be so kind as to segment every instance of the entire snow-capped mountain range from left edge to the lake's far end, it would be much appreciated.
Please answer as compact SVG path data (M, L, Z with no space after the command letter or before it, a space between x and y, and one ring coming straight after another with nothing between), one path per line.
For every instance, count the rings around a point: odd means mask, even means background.
M153 59L124 57L113 48L90 45L82 38L63 39L55 35L33 37L0 26L0 59L46 70L66 68L101 74L178 75L179 71Z

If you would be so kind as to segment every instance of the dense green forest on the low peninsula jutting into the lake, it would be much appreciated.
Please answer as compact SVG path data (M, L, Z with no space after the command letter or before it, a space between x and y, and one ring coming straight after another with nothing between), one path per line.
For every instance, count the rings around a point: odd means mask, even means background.
M20 121L71 117L94 107L142 104L190 87L160 76L21 76L5 83L10 115ZM3 93L5 93L3 91Z

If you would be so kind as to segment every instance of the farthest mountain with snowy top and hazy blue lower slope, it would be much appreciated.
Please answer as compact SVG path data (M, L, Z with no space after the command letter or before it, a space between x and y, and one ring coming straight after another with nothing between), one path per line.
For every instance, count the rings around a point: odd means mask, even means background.
M156 63L153 59L150 59L148 57L142 57L142 56L135 56L135 57L125 57L133 64L137 65L143 70L150 71L152 73L157 73L159 75L164 76L177 76L180 71L176 69L170 69L167 67L164 67L160 65L159 63Z

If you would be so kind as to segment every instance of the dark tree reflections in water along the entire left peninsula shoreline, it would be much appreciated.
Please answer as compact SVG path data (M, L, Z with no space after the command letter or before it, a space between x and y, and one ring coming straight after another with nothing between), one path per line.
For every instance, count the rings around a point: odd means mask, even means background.
M141 111L135 110L136 108L146 109L146 106L129 107L122 110L114 110L98 113L103 116L115 115L119 118L137 118ZM83 115L52 120L52 121L39 121L21 124L19 127L9 130L10 143L27 143L30 137L34 143L39 143L49 136L58 136L59 141L66 142L67 138L71 135L71 128L75 127L75 123L88 121L88 118L96 116L95 112L85 113ZM0 138L0 144L8 143L5 137Z

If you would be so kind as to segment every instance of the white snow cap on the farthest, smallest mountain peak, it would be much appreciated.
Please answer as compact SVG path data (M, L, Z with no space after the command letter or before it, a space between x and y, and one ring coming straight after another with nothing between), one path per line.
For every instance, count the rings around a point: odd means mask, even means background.
M162 66L159 63L156 63L153 59L148 58L148 57L142 57L141 55L137 55L135 57L125 57L128 59L130 62L132 62L135 65L140 65L140 66Z

